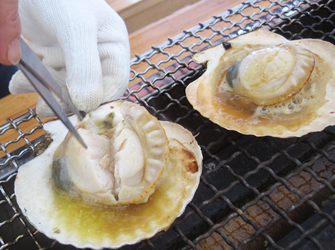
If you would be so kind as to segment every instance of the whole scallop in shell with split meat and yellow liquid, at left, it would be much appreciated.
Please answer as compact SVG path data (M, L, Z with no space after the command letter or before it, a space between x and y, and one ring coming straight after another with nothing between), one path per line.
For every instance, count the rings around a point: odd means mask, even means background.
M78 248L118 248L167 230L199 185L202 154L192 134L127 101L70 120L88 148L60 121L45 124L52 143L15 180L23 215Z

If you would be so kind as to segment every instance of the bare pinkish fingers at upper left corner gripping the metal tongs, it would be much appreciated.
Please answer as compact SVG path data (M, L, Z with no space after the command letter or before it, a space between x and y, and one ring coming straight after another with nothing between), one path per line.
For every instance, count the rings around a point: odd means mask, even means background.
M0 63L17 64L21 57L18 0L0 0Z

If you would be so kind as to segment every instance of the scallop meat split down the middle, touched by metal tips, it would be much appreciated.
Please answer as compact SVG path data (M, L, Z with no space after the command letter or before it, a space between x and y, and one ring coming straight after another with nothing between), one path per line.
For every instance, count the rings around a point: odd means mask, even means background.
M105 205L148 200L164 170L167 137L160 122L141 106L124 102L119 108L124 119L117 124L111 119L114 113L101 117L98 109L78 125L87 149L72 134L65 137L52 164L59 190Z

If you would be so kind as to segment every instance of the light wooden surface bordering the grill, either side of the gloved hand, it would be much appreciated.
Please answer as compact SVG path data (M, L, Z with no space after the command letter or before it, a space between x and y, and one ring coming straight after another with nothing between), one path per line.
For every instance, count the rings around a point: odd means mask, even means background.
M200 0L199 2L189 5L157 22L154 22L136 32L129 35L131 57L136 54L141 54L148 51L151 46L157 46L165 42L169 37L174 37L190 29L200 22L204 22L212 18L214 15L221 14L241 3L241 0ZM134 68L136 70L136 68ZM36 107L38 94L20 94L9 95L0 99L0 125L8 122L8 119L14 119L26 113L28 108ZM42 118L46 121L48 118ZM20 129L30 131L37 125L37 122L22 123ZM43 134L44 131L36 131L29 140L35 139ZM18 137L16 130L8 130L3 135L0 135L0 142L6 143L9 140L15 140ZM7 147L10 152L25 144L22 142L13 143ZM0 157L4 156L3 151L0 151Z

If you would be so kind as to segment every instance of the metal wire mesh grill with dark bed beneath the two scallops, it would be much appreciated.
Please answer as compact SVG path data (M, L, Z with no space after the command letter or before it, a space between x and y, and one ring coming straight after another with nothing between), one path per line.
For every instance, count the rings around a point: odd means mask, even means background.
M289 139L241 135L203 118L185 97L185 87L204 71L193 53L261 26L287 39L335 44L335 2L242 2L131 61L134 86L123 98L197 135L204 169L194 199L167 232L122 249L335 249L335 128ZM38 126L19 129L32 120ZM43 122L28 110L1 126L0 136L13 129L17 139L0 139L0 250L74 249L22 216L14 179L43 144L43 136L29 140ZM20 140L26 145L9 152Z

